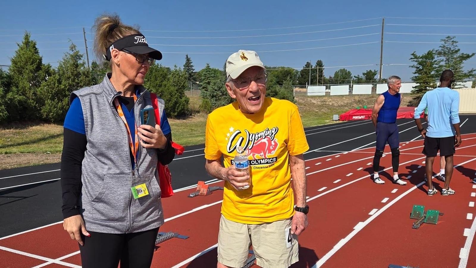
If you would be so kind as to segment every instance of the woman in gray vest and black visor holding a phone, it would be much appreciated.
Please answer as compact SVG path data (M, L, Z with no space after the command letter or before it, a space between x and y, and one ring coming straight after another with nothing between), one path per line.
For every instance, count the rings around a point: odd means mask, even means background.
M142 84L162 54L117 15L96 19L94 50L112 72L71 93L64 122L61 188L64 229L77 240L84 268L150 267L164 223L157 163L174 155L159 99L160 125L141 125L151 107Z

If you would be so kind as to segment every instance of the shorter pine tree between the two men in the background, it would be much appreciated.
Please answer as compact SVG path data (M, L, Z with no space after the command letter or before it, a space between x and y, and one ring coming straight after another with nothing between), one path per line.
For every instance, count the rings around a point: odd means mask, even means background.
M420 103L423 94L428 90L436 88L436 81L439 79L438 71L440 60L436 59L435 50L430 50L422 55L417 55L413 52L410 61L415 64L410 65L410 68L414 68L413 72L416 74L412 77L412 81L417 85L412 90L413 99L410 102L411 105L417 106Z

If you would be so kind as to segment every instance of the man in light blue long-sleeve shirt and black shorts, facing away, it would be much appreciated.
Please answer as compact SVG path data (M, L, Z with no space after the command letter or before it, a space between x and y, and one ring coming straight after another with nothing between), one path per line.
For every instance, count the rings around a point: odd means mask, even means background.
M461 144L459 132L459 93L451 90L454 74L451 70L445 70L440 77L440 85L423 95L423 98L415 110L415 123L418 132L425 138L423 154L426 155L426 178L428 178L428 196L437 193L432 184L433 161L440 151L440 156L446 160L445 186L441 195L454 195L455 191L449 187L453 175L453 155L455 147ZM424 129L420 114L428 108L428 129Z

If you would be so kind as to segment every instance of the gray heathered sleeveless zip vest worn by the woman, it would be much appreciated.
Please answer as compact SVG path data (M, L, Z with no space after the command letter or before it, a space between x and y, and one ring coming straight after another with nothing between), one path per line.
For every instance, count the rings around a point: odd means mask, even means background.
M150 93L139 87L134 104L136 125L140 111L152 105ZM70 101L79 97L86 129L86 152L82 162L81 208L86 229L101 233L133 233L150 230L164 223L157 172L157 149L145 149L139 144L135 170L129 157L126 125L114 106L117 92L104 80L91 87L71 93ZM164 108L159 99L159 114ZM145 183L148 196L134 199L132 186Z

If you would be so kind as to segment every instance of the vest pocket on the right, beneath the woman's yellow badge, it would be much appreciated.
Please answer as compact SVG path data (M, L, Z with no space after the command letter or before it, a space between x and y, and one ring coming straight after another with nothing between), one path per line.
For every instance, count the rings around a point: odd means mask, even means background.
M132 199L132 222L150 220L159 216L162 209L160 203L160 187L155 175L140 175L140 184L145 183L149 195Z

